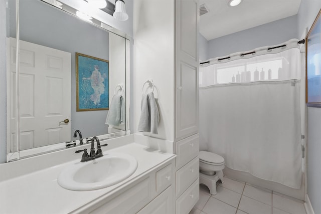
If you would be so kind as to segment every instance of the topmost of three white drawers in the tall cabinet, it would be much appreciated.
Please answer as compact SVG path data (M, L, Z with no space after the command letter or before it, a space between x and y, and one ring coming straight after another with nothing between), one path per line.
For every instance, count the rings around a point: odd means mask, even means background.
M179 169L194 157L199 155L200 140L199 135L180 140L176 143L176 168Z

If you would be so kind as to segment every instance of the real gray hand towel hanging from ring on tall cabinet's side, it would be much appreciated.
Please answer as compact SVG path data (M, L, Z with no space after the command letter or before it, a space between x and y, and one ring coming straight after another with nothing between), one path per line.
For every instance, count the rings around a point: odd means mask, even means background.
M154 94L152 92L142 95L140 109L141 113L138 124L138 131L158 134L157 126L159 122L159 112Z

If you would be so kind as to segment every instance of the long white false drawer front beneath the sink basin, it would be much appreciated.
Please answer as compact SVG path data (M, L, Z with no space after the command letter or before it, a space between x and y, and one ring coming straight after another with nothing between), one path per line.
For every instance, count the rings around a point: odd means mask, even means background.
M148 177L89 213L136 213L149 202L150 196L150 177Z

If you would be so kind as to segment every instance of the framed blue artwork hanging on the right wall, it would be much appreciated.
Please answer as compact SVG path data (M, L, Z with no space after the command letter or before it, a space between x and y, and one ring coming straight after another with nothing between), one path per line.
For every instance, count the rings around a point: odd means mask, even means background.
M307 106L321 107L321 10L305 41L305 102Z

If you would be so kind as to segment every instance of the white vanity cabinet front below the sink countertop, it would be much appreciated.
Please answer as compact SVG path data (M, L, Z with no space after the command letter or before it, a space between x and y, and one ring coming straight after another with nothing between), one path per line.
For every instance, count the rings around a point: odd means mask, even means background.
M175 213L175 160L163 164L142 176L112 197L102 199L88 208L80 208L72 213L125 214L125 213Z

